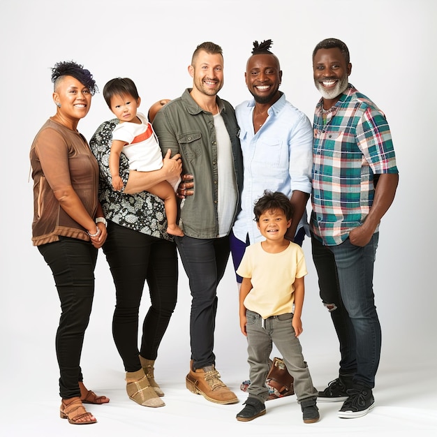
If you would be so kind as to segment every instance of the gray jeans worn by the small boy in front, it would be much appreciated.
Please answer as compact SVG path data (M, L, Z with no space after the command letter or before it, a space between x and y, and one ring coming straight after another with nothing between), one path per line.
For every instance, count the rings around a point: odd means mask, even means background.
M308 366L302 355L302 347L291 325L292 313L271 316L263 320L258 313L248 309L246 318L247 362L251 366L251 385L247 389L249 397L264 402L269 396L265 380L269 372L269 356L274 343L286 363L288 373L295 378L297 401L316 398L318 391L313 386Z

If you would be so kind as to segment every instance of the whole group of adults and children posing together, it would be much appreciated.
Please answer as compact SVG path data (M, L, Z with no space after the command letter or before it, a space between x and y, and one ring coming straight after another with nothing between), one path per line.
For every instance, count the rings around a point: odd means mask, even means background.
M132 80L111 80L103 95L117 118L101 124L89 145L77 124L96 83L73 61L52 69L57 112L30 154L32 239L61 301L60 414L71 424L96 423L83 404L109 401L87 390L80 369L100 248L114 280L112 334L133 401L165 405L154 362L176 305L179 252L192 296L186 387L214 403L238 402L220 379L214 355L217 288L232 253L251 380L237 420L265 414L272 343L295 378L305 423L319 420L317 401L343 401L339 417L373 408L381 337L373 262L378 225L398 182L390 128L383 112L349 83L352 66L341 40L328 38L313 50L322 95L313 126L279 90L282 71L271 46L271 40L253 43L245 73L253 98L235 110L218 97L223 53L211 42L193 52L192 87L157 102L149 117L137 111ZM306 235L341 353L338 377L320 392L298 340ZM145 281L151 306L138 346Z

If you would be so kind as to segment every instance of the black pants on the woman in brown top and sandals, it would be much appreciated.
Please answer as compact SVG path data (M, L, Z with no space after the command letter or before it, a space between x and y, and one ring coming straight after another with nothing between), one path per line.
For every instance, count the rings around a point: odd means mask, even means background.
M80 396L80 355L94 297L94 267L97 250L89 242L60 237L59 242L38 246L52 269L61 300L61 318L56 335L59 364L59 394L63 399Z

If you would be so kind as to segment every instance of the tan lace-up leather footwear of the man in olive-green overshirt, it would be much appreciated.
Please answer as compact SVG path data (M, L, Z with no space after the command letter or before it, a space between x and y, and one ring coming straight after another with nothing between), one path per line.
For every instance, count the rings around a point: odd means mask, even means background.
M237 403L238 398L232 393L225 383L220 380L220 374L214 366L192 370L185 378L186 388L194 394L202 394L205 399L215 403Z

